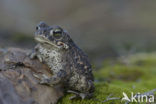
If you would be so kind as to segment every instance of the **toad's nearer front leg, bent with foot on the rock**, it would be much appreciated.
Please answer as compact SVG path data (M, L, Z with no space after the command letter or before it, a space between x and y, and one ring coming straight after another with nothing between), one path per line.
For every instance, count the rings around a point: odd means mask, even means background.
M40 84L46 84L50 86L56 85L60 82L64 82L66 75L67 73L64 70L60 70L58 73L54 74L50 78L44 75L43 78L41 79Z

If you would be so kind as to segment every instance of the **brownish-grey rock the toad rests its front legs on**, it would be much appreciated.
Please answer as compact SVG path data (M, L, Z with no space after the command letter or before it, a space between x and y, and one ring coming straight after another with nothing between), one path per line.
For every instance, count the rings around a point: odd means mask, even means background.
M63 96L61 85L40 85L38 77L52 76L49 68L30 59L30 50L0 50L0 104L55 104Z

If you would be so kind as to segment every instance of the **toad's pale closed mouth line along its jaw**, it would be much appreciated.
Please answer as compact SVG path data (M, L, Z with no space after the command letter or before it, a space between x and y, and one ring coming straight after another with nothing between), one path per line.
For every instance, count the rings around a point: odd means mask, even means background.
M49 44L49 45L52 45L56 48L61 48L60 46L55 45L54 43L52 43L51 41L49 41L48 39L46 39L43 36L39 36L39 35L35 36L35 40L39 43L42 43L42 44Z

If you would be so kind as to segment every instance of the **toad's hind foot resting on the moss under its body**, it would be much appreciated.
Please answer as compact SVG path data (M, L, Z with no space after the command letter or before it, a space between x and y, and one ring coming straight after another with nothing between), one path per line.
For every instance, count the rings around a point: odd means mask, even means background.
M76 98L81 98L82 100L85 99L85 98L91 98L93 96L92 93L79 93L79 92L76 92L76 91L72 91L72 90L68 90L67 91L68 93L73 93L75 94L74 96L71 96L69 99L72 100L72 99L76 99Z

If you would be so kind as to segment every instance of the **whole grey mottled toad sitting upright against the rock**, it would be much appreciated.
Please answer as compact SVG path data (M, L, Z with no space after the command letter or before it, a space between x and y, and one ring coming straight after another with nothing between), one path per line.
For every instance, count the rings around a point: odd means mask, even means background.
M62 84L68 92L76 95L74 97L82 99L93 94L94 79L88 57L67 32L59 26L48 26L40 22L36 27L35 40L38 44L30 57L37 57L53 73L51 78L41 78L41 84Z

